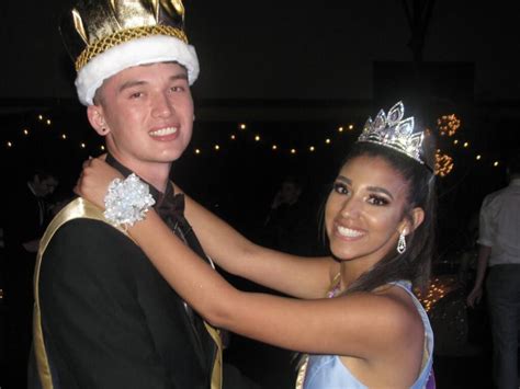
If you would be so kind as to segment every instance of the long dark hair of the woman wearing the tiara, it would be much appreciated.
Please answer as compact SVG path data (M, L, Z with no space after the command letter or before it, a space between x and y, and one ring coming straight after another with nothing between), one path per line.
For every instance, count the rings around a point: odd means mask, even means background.
M370 271L362 274L347 289L347 293L371 291L378 286L400 279L408 279L414 287L423 290L429 283L431 261L436 248L437 197L434 174L427 165L420 164L400 152L370 142L354 144L342 165L361 156L383 158L399 172L409 186L408 205L404 210L404 216L410 218L411 221L411 210L420 207L425 211L425 219L418 228L406 237L407 250L403 254L391 250Z

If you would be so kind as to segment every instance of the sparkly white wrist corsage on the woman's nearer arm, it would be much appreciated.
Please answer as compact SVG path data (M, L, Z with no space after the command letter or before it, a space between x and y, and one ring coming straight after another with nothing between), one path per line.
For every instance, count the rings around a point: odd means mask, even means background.
M116 227L134 226L143 220L155 204L148 184L132 173L125 180L115 179L104 196L104 217Z

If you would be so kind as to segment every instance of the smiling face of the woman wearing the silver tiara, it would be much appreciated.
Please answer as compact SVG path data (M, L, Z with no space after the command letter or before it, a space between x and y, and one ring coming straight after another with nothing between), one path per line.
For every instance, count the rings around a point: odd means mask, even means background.
M330 250L339 260L364 259L368 265L395 250L408 183L380 157L360 156L340 170L327 199L325 224Z

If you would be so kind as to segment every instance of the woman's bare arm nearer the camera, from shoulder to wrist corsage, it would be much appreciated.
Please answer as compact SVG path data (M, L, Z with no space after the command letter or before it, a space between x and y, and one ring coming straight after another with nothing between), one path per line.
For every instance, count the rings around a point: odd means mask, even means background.
M155 211L128 232L179 295L216 327L290 350L368 359L421 336L420 324L414 330L420 323L415 308L394 297L365 293L298 300L237 290Z

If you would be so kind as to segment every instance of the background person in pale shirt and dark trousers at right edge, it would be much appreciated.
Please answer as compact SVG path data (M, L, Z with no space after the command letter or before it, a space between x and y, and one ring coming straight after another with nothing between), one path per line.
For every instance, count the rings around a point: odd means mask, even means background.
M496 388L518 388L520 325L520 153L508 167L509 185L488 194L481 206L473 307L487 291L491 323L493 378ZM486 277L487 273L487 277Z

